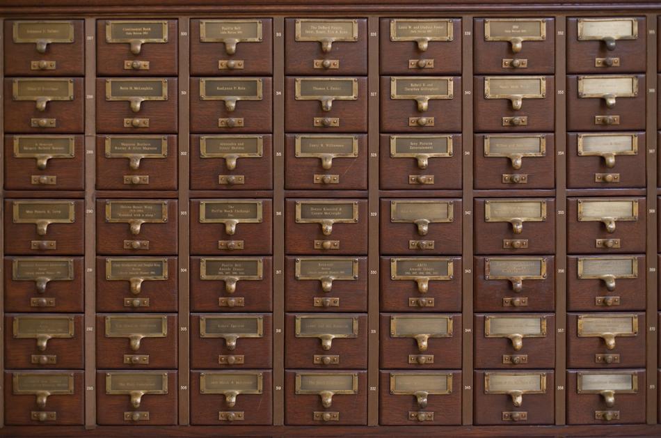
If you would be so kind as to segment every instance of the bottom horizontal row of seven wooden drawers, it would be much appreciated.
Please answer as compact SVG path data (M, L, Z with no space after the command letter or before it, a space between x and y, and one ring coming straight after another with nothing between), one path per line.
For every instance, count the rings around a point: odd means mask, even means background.
M475 371L475 424L553 424L552 370ZM81 424L83 375L6 372L8 424ZM461 423L461 372L381 371L382 425ZM270 370L191 372L192 424L271 424ZM644 370L568 370L569 424L644 423ZM50 395L38 389L49 388ZM97 371L97 423L177 423L174 371ZM365 424L365 371L285 371L285 423Z

